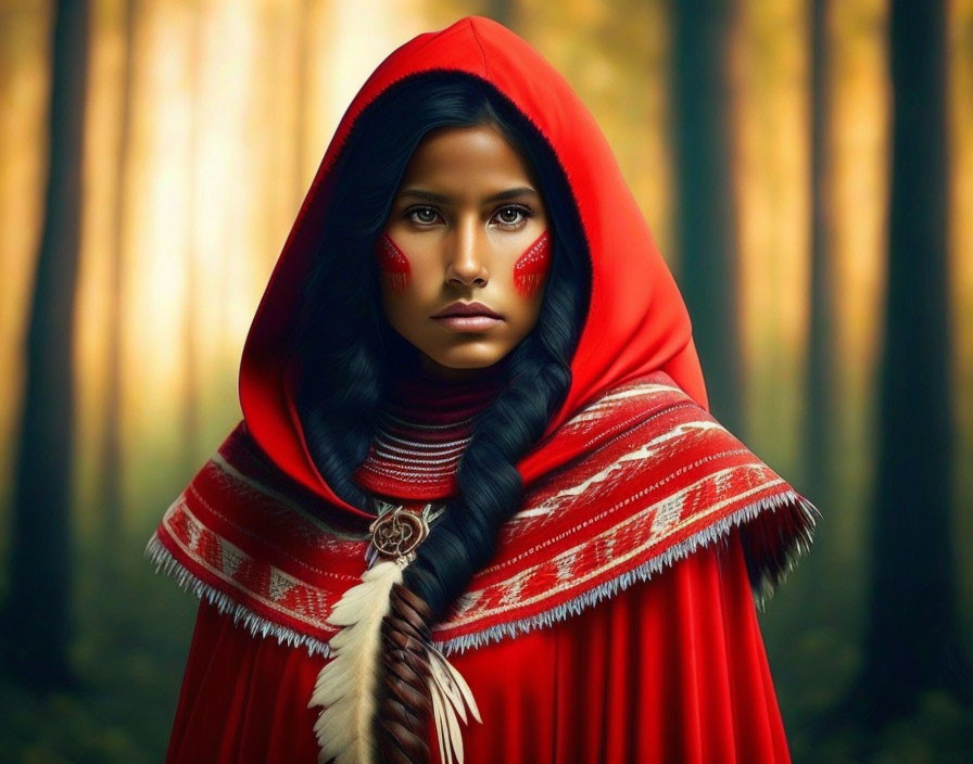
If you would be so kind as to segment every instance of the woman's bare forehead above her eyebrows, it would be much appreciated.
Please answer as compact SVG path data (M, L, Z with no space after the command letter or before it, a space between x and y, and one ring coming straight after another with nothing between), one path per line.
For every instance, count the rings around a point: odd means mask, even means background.
M454 190L511 183L531 186L530 168L493 125L437 130L419 143L406 167L402 189L412 184Z

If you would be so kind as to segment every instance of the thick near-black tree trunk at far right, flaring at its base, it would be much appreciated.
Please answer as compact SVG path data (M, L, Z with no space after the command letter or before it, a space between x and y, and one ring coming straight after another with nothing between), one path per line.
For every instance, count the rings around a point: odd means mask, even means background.
M881 727L969 703L952 550L944 0L892 4L893 176L865 662L846 708Z

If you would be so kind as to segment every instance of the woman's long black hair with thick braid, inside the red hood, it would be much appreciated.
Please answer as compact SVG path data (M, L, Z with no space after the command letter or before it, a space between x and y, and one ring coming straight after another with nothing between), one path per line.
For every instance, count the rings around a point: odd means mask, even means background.
M352 472L368 454L391 373L418 362L418 351L384 317L371 247L424 137L484 124L495 125L533 170L555 249L538 322L503 360L506 381L476 420L456 495L403 573L433 621L489 562L500 527L519 508L523 486L514 466L567 394L591 296L591 259L564 169L540 131L492 85L456 72L413 75L362 112L336 161L292 348L308 450L336 494L364 507L367 496Z

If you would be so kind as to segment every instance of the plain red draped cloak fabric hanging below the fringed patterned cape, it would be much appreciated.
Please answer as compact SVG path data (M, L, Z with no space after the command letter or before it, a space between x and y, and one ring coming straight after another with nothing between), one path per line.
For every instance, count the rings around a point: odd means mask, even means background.
M316 764L328 659L203 601L167 764ZM450 658L483 724L469 764L788 762L738 534L548 628ZM435 735L430 737L435 756ZM438 761L433 757L433 761Z

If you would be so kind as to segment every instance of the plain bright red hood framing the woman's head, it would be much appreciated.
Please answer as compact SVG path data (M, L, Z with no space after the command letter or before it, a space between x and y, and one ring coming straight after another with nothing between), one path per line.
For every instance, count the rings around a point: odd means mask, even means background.
M594 118L525 40L489 18L462 18L396 49L355 96L304 199L243 347L240 404L254 440L290 478L356 514L365 513L334 495L307 451L286 382L285 351L315 235L327 214L339 149L365 106L395 81L428 69L475 75L510 99L554 148L581 214L593 293L571 361L571 387L545 437L609 387L657 369L708 407L685 305ZM517 468L527 485L570 456L544 444Z

